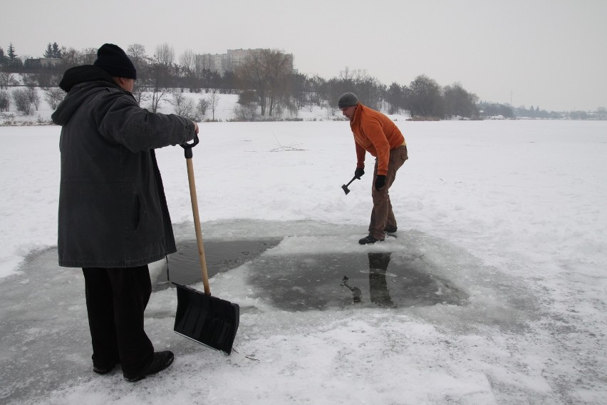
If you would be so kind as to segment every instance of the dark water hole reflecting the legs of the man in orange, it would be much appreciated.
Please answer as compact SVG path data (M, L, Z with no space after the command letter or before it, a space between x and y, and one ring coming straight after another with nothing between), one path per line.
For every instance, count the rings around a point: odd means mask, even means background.
M344 307L462 305L467 294L432 275L422 257L403 253L264 256L251 284L289 311Z

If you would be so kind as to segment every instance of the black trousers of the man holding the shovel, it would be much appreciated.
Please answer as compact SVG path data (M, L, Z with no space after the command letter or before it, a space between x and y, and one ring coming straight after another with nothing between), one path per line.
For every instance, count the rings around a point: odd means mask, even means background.
M128 268L83 268L93 364L120 362L124 373L138 373L154 356L143 330L143 312L152 294L147 265Z

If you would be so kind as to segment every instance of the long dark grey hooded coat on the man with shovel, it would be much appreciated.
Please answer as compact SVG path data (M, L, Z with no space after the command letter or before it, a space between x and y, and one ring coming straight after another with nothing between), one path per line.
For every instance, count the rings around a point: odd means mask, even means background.
M192 140L194 123L150 113L96 66L66 71L58 252L64 267L135 267L175 252L155 148Z

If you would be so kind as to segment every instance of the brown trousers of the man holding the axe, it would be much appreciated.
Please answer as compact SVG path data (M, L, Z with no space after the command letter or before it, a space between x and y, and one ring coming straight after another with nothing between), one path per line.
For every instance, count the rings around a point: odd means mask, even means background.
M373 197L373 211L369 222L369 235L377 240L384 240L385 228L396 229L396 218L392 212L392 203L388 190L396 179L396 172L408 159L407 145L390 150L390 161L388 162L388 173L385 174L385 185L380 190L375 190L375 179L378 175L378 160L375 159L375 170L373 170L373 183L371 185L371 197Z

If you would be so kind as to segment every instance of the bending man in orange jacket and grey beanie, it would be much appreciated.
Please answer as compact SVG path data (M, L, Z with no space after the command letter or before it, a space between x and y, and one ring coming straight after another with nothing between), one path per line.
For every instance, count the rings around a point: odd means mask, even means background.
M356 145L356 170L359 178L365 174L365 153L375 156L373 170L373 211L369 222L369 235L358 241L360 245L385 239L385 232L396 232L396 218L392 212L388 190L396 178L396 172L408 159L407 143L398 127L390 118L363 106L353 93L344 93L338 101L343 116L350 120L350 128Z

